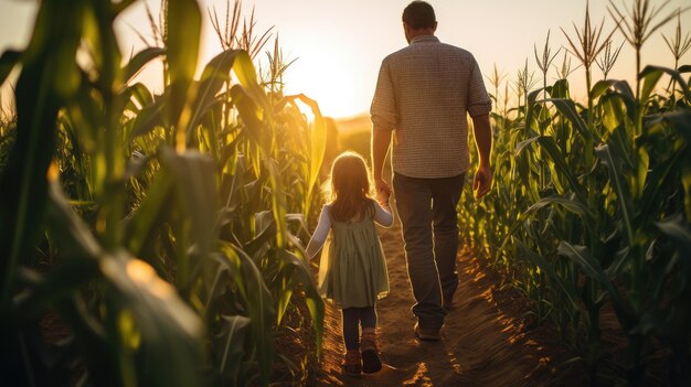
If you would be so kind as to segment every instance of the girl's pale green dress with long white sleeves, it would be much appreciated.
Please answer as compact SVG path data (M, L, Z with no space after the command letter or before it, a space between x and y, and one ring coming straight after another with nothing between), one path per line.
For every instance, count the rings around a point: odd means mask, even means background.
M308 254L323 246L319 292L338 308L374 307L389 293L389 273L375 223L389 227L393 215L374 203L374 214L358 222L337 222L325 205Z

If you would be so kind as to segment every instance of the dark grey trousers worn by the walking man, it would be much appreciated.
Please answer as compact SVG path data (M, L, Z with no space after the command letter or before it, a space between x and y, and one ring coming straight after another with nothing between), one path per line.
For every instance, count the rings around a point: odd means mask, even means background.
M453 178L418 179L394 173L396 209L403 225L405 258L415 305L424 329L439 329L458 287L458 214L465 173Z

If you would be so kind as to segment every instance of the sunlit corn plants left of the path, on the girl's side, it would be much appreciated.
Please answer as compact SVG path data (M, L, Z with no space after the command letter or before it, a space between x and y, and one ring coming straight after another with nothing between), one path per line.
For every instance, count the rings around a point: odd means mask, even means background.
M42 1L26 50L0 60L1 80L21 65L0 144L0 384L267 385L294 294L320 348L298 236L325 120L283 95L277 42L257 74L268 35L236 29L238 3L199 79L194 0L163 2L158 44L120 65L113 23L132 3ZM156 60L160 95L132 80ZM42 336L47 312L67 340Z

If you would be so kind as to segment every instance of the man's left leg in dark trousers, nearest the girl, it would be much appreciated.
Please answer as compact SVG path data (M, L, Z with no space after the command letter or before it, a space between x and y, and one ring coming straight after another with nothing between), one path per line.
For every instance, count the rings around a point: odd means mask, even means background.
M446 311L442 308L439 275L432 243L432 190L429 179L393 176L396 209L403 225L408 278L413 287L413 313L421 327L439 329Z

